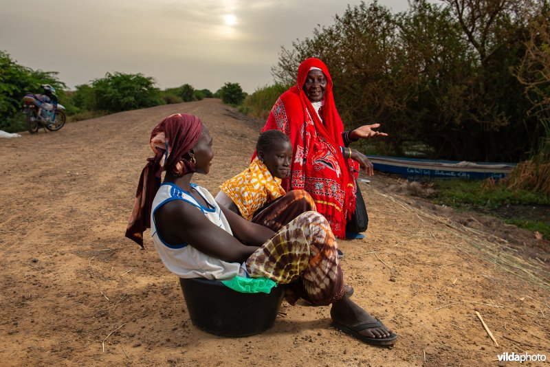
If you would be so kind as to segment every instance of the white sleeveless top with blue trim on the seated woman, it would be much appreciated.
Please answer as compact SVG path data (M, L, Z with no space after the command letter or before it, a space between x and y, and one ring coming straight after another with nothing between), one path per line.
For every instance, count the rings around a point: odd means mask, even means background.
M239 268L241 267L239 263L228 263L219 258L208 256L187 243L170 245L162 241L162 238L159 237L157 226L155 225L155 212L162 205L172 200L182 200L190 203L206 215L206 218L212 223L232 234L229 223L227 219L225 219L225 215L221 212L219 205L210 192L194 183L191 183L191 187L195 188L201 197L210 204L209 207L201 205L189 194L189 192L184 191L173 183L163 183L153 200L153 210L151 210L151 233L153 236L153 243L157 248L162 263L164 263L168 270L180 278L201 277L208 279L230 279L239 275Z

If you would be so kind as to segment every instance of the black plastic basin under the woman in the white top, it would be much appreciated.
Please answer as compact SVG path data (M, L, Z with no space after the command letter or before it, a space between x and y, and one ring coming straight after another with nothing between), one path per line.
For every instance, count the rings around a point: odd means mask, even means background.
M179 278L189 317L202 331L227 337L245 337L270 329L277 317L285 287L271 293L241 293L219 280Z

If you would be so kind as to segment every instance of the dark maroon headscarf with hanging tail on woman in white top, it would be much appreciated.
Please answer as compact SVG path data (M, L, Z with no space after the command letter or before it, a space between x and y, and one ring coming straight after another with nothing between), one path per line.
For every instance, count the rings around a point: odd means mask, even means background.
M147 158L137 186L126 237L143 248L143 231L151 227L151 206L160 187L163 170L179 177L195 172L195 164L183 155L195 146L202 133L202 122L194 115L176 113L160 122L151 133L149 145L154 157Z

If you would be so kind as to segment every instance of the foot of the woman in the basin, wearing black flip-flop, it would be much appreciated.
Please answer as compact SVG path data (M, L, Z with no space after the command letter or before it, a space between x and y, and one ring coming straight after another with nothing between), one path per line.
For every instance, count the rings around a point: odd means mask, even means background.
M334 302L331 308L331 318L337 324L346 326L349 329L353 329L355 326L361 324L371 324L377 322L373 316L369 315L364 309L355 304L349 299L347 295L344 295L342 299ZM374 327L371 329L358 330L357 333L366 337L383 339L390 337L392 334L391 329L381 324L380 327Z

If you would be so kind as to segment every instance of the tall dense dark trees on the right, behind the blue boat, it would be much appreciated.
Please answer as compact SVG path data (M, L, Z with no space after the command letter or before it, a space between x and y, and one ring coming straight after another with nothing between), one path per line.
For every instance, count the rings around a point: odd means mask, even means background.
M348 129L380 122L379 153L518 162L550 138L548 0L409 1L393 14L376 1L282 47L276 82L298 65L329 67ZM372 143L371 143L372 144Z

